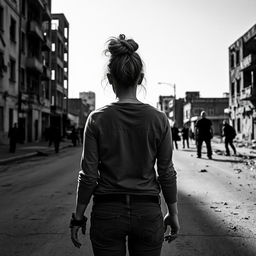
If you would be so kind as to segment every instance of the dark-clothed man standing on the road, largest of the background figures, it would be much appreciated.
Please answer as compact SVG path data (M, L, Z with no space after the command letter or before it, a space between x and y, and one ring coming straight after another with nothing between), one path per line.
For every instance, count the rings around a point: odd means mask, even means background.
M205 142L207 156L212 159L211 139L213 137L212 122L206 118L205 111L201 112L201 119L196 122L197 158L201 158L202 144Z

